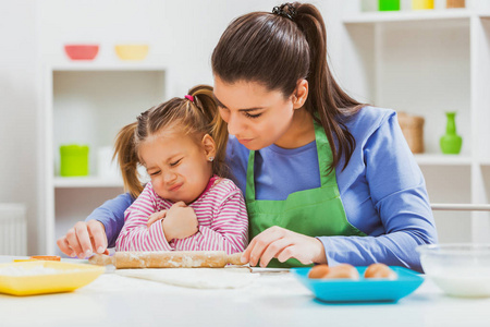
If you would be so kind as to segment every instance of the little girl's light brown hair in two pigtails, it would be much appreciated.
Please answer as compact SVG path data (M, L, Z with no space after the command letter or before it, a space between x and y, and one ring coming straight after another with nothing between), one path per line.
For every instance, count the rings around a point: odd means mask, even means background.
M228 130L216 105L212 87L198 85L189 89L188 98L172 98L155 106L138 116L137 121L124 126L115 140L114 158L118 157L124 187L133 197L137 197L143 185L138 178L137 166L142 164L138 146L150 136L163 131L183 132L200 144L204 135L209 134L216 143L216 157L212 161L213 173L228 175L224 164Z

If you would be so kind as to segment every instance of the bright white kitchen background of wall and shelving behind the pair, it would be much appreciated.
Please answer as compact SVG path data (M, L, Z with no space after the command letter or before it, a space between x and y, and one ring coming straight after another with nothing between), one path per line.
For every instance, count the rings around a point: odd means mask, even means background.
M407 112L401 123L421 152L431 203L489 204L490 0L466 0L463 9L402 0L387 12L377 0L311 2L327 22L341 85L362 101ZM0 0L0 254L57 253L57 238L122 192L108 160L118 130L195 84L212 84L210 55L226 24L278 4ZM64 46L81 44L98 45L93 60L69 58ZM140 60L115 52L136 44L148 46ZM457 155L440 145L449 111L463 140ZM88 146L88 177L61 175L62 145ZM434 216L443 243L490 242L486 211Z

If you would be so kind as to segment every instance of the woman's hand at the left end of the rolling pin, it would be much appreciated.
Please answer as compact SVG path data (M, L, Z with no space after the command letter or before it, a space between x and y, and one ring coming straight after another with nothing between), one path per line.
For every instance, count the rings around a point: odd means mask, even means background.
M61 252L71 257L85 258L94 253L109 254L106 228L98 220L78 221L66 234L57 241Z

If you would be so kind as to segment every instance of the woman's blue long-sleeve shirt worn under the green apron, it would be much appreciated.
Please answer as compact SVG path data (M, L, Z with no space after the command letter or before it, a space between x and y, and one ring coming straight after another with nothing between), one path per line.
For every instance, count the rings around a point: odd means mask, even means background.
M421 270L415 247L436 243L437 231L424 177L402 134L393 110L365 107L346 126L356 140L351 160L335 168L347 220L368 237L322 237L329 265L375 262ZM226 158L233 180L245 194L249 150L230 136ZM256 196L285 199L297 191L320 186L315 142L284 149L275 145L256 152ZM122 194L87 218L106 227L109 246L124 225L133 198ZM328 213L326 213L326 216Z

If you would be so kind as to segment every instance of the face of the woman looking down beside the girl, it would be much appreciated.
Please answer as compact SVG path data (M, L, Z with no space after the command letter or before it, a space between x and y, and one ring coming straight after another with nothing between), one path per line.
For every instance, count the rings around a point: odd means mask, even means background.
M215 76L215 97L228 132L248 149L278 143L293 120L292 97L256 82L226 84Z

